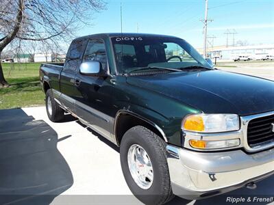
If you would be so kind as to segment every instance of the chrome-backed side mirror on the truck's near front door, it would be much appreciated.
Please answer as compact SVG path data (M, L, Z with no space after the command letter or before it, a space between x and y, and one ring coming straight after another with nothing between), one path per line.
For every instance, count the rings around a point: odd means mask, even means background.
M105 71L99 61L86 61L80 65L80 73L89 76L105 77Z

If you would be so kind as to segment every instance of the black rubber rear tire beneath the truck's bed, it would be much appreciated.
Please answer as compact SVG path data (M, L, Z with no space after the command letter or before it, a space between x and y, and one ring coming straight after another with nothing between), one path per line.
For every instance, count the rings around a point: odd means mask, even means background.
M49 105L48 100L51 100L51 113L49 111ZM46 93L46 109L47 109L47 116L49 117L49 120L52 122L60 122L64 119L64 110L58 105L57 102L55 102L53 98L52 90L47 90Z

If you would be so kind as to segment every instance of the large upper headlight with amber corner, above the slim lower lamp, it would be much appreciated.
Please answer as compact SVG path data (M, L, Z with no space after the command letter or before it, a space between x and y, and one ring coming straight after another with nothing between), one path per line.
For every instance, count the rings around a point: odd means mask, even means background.
M184 118L182 129L197 133L238 131L240 120L235 114L193 114Z

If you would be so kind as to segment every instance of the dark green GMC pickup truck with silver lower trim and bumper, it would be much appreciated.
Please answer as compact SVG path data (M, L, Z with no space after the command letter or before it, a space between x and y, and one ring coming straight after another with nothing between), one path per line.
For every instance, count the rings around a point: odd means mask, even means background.
M71 113L120 147L145 204L253 189L274 173L274 82L217 70L180 38L77 38L40 81L51 121Z

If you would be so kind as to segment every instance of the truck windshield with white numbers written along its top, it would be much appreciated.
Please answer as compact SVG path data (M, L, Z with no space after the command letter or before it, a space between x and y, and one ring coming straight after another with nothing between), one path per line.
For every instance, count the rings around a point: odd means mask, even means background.
M112 37L116 67L119 73L146 72L144 68L189 67L211 69L207 61L188 42L169 37Z

